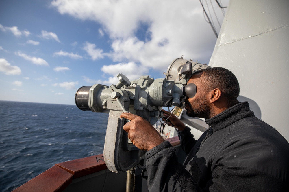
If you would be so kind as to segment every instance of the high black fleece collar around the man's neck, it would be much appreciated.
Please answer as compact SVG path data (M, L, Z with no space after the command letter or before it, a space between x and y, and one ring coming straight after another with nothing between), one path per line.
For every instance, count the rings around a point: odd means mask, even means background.
M240 102L222 113L210 118L205 119L205 122L212 127L213 132L221 130L240 119L253 116L254 112L250 111L249 103L247 101Z

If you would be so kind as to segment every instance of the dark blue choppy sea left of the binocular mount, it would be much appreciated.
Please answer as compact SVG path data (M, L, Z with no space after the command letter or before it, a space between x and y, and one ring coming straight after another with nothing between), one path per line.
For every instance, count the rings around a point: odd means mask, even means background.
M103 153L107 121L74 105L0 101L0 191L56 163Z

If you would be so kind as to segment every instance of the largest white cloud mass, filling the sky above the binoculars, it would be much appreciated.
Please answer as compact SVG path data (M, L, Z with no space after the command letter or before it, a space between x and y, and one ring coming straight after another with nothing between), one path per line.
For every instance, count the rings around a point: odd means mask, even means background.
M222 3L227 5L228 0ZM209 62L216 43L199 1L54 0L51 5L60 14L102 25L99 34L108 34L112 52L103 53L101 48L95 49L95 44L86 43L86 51L93 60L109 56L116 62L134 61L166 71L173 59L181 55ZM216 2L213 5L222 22L221 9ZM210 11L213 11L211 7ZM145 37L140 37L139 30Z

